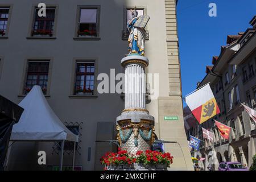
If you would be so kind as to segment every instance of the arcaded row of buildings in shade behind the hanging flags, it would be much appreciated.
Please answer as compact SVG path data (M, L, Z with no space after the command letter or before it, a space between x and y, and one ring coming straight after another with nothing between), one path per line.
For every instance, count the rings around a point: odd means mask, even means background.
M207 66L207 75L197 84L197 88L210 83L220 114L200 126L214 133L214 142L203 139L203 131L197 124L189 127L189 134L204 140L199 151L192 151L197 158L205 158L201 166L207 169L220 162L241 162L251 166L255 155L255 122L249 117L241 103L255 108L256 86L256 32L255 16L250 21L251 28L238 35L228 35L227 46L221 47L219 56L213 56ZM213 119L232 127L229 140L221 137Z

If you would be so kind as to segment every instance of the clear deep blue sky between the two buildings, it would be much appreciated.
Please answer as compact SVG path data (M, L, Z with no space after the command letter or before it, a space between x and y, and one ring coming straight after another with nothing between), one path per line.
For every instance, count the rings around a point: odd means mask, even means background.
M217 16L210 17L208 7L216 3ZM212 56L220 55L227 35L237 35L250 28L256 15L256 0L179 0L177 26L183 97L203 80ZM185 106L185 103L184 103Z

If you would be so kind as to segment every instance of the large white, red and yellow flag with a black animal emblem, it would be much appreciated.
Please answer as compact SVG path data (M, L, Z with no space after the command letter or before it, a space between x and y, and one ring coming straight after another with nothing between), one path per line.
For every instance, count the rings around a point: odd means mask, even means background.
M220 113L209 84L186 96L185 102L200 124Z

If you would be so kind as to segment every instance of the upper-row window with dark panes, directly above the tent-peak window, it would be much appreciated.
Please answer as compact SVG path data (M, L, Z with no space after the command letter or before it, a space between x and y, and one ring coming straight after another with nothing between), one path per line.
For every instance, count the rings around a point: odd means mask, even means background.
M53 36L54 20L55 20L55 8L46 9L46 17L38 16L39 9L35 9L34 24L32 27L31 36Z

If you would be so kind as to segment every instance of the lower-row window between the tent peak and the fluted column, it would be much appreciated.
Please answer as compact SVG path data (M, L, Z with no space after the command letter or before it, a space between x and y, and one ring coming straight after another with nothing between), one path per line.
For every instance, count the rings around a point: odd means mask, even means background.
M77 61L75 95L93 95L94 72L94 62Z

